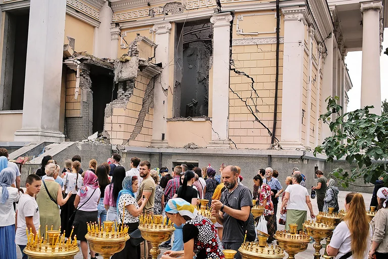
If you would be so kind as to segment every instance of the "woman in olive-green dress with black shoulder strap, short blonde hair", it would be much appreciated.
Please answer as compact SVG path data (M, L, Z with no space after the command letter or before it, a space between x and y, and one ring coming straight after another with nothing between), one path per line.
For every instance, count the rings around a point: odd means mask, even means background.
M63 198L62 187L55 181L59 173L59 165L49 163L44 168L45 177L42 179L40 191L36 195L36 203L39 207L39 219L41 226L53 226L58 230L61 226L59 206L63 206L71 197L71 192ZM53 200L52 200L53 199Z

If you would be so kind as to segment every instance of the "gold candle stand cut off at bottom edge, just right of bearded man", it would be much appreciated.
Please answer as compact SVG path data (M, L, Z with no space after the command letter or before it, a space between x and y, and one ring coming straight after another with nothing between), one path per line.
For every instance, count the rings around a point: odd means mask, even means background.
M280 259L284 257L284 250L278 245L269 246L266 236L258 236L258 239L258 242L245 242L238 248L243 259Z

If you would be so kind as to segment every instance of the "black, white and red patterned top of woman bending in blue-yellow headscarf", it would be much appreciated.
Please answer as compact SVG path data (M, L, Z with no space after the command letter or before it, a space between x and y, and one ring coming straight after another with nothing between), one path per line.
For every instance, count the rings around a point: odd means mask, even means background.
M197 259L225 258L217 228L201 214L183 226L183 242L194 239L194 253Z

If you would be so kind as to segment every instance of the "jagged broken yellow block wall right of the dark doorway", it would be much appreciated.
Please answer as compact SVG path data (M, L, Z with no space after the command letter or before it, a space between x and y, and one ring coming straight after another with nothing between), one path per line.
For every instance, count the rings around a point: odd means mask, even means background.
M154 109L150 108L144 118L141 131L135 140L129 140L139 117L142 107L144 93L151 77L139 74L135 79L133 95L129 98L126 108L114 108L112 116L105 119L104 129L110 135L111 143L114 145L128 145L137 147L148 147L152 138L152 122Z

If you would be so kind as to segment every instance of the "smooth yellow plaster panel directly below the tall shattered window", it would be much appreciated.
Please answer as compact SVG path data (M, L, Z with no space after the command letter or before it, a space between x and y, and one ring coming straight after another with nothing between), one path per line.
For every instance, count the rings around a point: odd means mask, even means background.
M184 137L179 137L183 135ZM212 124L210 121L168 121L167 139L171 147L195 143L206 148L212 140Z

